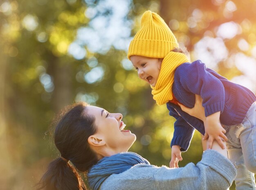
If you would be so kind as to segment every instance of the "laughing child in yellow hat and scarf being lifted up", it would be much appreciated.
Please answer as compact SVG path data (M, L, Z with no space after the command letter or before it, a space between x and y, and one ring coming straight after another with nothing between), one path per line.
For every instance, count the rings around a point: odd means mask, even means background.
M166 104L169 114L176 118L170 167L182 160L181 152L189 148L196 129L207 139L208 149L214 139L222 148L222 140L227 141L229 159L237 165L237 189L255 189L255 94L205 67L200 60L191 63L187 55L164 20L146 11L127 57L139 78L150 84L156 103ZM193 107L195 94L202 97L204 121L180 107Z

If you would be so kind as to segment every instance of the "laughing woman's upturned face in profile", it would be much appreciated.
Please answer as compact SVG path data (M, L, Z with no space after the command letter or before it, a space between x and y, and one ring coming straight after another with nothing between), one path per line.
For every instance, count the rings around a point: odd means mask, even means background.
M109 113L96 106L88 106L87 112L95 117L97 132L94 136L103 140L113 152L127 152L135 142L135 134L124 130L125 124L121 121L122 114Z

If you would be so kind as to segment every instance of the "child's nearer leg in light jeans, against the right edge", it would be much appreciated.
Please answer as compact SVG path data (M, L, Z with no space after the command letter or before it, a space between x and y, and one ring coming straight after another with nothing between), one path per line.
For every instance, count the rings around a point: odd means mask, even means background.
M241 132L240 132L241 131ZM256 103L254 103L240 125L241 142L246 168L256 173Z

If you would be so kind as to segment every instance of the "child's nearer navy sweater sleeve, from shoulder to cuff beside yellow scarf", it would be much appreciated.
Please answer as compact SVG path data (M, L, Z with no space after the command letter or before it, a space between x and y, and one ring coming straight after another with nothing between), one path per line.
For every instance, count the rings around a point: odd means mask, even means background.
M224 86L217 77L207 71L205 64L200 60L180 65L175 75L186 91L202 97L205 116L224 110Z

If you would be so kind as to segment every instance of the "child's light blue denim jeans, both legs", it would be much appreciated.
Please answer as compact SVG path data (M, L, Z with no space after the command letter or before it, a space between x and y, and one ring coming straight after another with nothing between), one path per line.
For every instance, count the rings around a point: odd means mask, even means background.
M256 190L256 102L237 125L222 125L226 130L229 160L234 163L236 190Z

